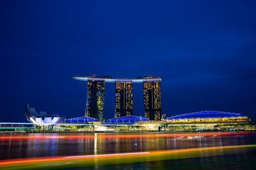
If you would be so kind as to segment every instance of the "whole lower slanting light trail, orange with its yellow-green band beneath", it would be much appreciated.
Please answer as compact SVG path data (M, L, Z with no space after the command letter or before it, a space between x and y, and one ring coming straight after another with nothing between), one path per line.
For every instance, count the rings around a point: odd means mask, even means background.
M0 169L47 169L60 167L93 166L121 164L131 162L145 162L154 160L182 159L189 157L202 157L209 155L221 155L225 152L237 152L239 148L255 148L256 145L212 146L204 148L186 148L177 150L156 150L149 152L131 153L106 153L99 155L70 155L57 157L38 157L26 159L0 160Z

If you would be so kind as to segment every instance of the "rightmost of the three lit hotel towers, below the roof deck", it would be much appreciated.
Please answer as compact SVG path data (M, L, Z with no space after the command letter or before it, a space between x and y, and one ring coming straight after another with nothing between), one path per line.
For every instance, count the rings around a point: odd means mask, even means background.
M160 81L143 81L145 117L150 120L161 120Z

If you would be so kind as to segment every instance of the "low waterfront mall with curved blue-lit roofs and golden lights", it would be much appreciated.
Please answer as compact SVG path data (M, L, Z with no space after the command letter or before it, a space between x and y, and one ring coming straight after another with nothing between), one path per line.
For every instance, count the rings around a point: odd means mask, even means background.
M236 131L250 130L249 127L246 127L246 124L249 122L250 118L241 115L241 113L229 113L223 111L186 113L166 117L163 120L150 120L149 118L136 116L111 118L101 123L95 118L88 117L69 118L64 120L64 123L66 124L100 124L105 127L113 127L115 131Z

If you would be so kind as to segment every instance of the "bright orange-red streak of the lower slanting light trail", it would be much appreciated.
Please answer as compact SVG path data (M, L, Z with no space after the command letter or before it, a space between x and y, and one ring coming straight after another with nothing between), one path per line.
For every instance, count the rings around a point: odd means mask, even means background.
M99 154L99 155L74 155L74 156L57 156L57 157L37 157L37 158L25 158L25 159L9 159L9 160L0 160L0 169L4 165L14 165L14 164L41 164L44 162L68 162L74 160L90 160L92 162L93 159L109 159L109 158L145 158L152 156L166 156L172 154L179 153L196 153L196 152L204 152L204 151L214 151L214 150L227 150L234 148L254 148L256 145L232 145L232 146L211 146L204 148L186 148L186 149L178 149L178 150L157 150L150 152L131 152L131 153L109 153L109 154Z

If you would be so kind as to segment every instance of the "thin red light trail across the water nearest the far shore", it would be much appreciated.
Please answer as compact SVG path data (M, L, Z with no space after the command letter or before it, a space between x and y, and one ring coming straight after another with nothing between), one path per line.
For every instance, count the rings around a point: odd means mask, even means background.
M98 134L97 138L174 138L186 136L218 136L255 134L255 132L191 132L191 133L163 133L163 134ZM95 135L61 135L61 136L0 136L0 140L30 140L30 139L83 139L95 138Z

